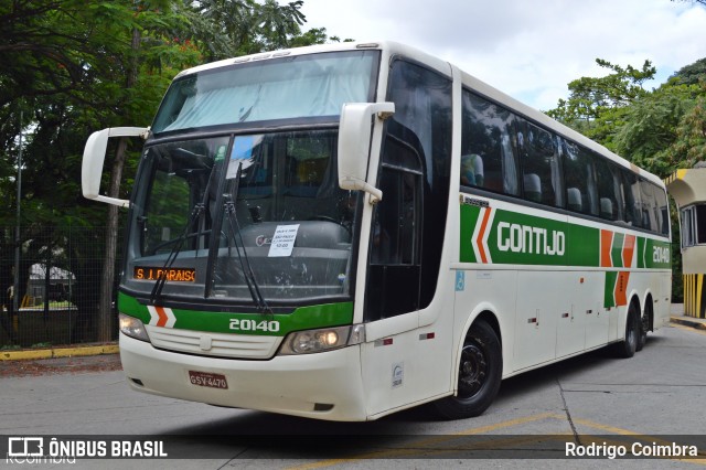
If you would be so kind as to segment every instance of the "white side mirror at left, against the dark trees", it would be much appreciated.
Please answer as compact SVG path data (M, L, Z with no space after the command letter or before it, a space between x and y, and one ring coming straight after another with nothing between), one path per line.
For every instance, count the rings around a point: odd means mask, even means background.
M103 174L103 163L106 159L109 137L142 137L147 138L149 129L146 127L111 127L93 132L86 141L84 158L81 165L81 188L84 197L98 202L106 202L120 207L127 207L129 201L124 199L101 196L100 177Z

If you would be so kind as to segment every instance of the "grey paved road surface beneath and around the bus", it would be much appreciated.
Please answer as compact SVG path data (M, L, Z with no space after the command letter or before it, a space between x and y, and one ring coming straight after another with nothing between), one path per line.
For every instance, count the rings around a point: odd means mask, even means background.
M216 408L133 393L121 371L2 377L0 396L1 435L182 435L189 455L201 459L79 461L72 468L466 468L481 464L466 460L468 446L478 445L468 436L475 435L511 455L530 448L535 450L520 456L546 457L547 449L564 450L554 435L601 435L599 444L630 448L638 441L674 441L672 435L706 434L706 331L666 328L650 335L645 349L630 360L599 351L513 377L503 382L485 414L457 421L436 420L424 409L340 424ZM548 444L535 448L528 442L543 436ZM522 466L606 463L644 469L699 462L526 460ZM482 464L516 462L490 459Z

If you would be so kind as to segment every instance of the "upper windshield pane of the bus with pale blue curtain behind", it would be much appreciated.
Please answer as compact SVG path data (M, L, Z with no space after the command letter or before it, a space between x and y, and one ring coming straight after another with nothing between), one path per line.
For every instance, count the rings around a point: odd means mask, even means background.
M370 102L375 51L288 56L178 78L152 132L275 119L339 116L344 103Z

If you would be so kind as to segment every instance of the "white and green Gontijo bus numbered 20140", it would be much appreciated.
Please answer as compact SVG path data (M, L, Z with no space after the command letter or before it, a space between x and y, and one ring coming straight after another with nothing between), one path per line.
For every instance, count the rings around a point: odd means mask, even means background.
M110 136L146 138L130 201ZM439 58L345 43L179 74L95 132L83 191L129 206L131 388L371 420L481 414L503 378L668 321L659 178Z

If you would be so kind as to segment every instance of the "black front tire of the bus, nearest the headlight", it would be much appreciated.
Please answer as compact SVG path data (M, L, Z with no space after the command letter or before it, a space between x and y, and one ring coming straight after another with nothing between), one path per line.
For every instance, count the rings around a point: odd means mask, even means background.
M495 331L478 320L466 335L459 364L458 394L434 403L446 419L482 414L495 399L503 375L503 352Z

